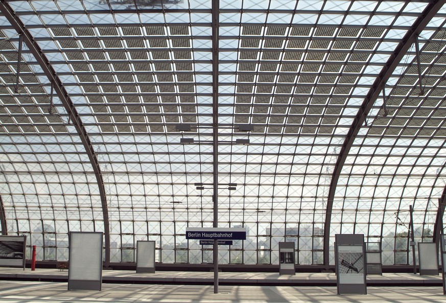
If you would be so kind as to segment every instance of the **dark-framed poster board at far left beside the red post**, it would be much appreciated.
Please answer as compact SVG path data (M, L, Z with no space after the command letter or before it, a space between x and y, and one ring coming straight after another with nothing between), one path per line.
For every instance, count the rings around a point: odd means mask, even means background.
M26 236L0 236L0 267L25 269Z

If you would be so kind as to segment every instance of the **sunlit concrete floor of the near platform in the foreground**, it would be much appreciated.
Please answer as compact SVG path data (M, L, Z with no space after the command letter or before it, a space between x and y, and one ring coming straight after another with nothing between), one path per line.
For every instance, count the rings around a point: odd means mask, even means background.
M336 287L103 284L102 291L67 291L66 283L0 282L2 303L446 303L441 287L368 287L367 295L337 295Z

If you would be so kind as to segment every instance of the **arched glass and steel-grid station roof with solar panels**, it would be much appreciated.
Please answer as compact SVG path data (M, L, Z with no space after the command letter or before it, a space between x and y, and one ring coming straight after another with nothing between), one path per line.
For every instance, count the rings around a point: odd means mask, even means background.
M212 262L184 234L213 226L216 190L218 226L248 228L221 263L277 264L295 241L298 264L328 266L356 233L410 264L409 205L432 242L446 203L441 3L2 3L2 231L40 260L104 231L106 262L138 240Z

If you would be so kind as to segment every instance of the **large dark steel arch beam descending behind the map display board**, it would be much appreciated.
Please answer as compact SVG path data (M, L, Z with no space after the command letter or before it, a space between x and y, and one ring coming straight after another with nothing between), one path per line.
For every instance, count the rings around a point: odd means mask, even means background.
M341 151L338 155L336 165L333 171L332 180L330 182L330 189L328 190L327 196L327 208L325 212L325 225L324 225L324 252L323 252L323 263L325 268L328 269L330 265L330 227L333 211L333 200L335 198L335 191L338 184L339 176L341 174L342 168L344 166L345 160L350 152L351 146L353 145L355 138L363 125L365 118L373 106L374 102L380 96L384 85L386 84L389 77L392 75L395 68L398 66L400 61L406 55L410 46L415 41L416 36L428 25L429 21L435 16L435 14L442 8L446 3L446 0L435 0L432 1L421 15L415 20L411 29L403 37L402 41L396 47L393 54L387 60L384 67L381 69L380 74L377 79L373 82L372 87L367 93L358 113L356 114L353 123L348 130L345 137L344 143L342 144Z

